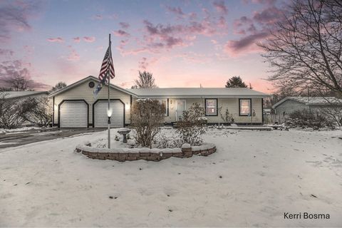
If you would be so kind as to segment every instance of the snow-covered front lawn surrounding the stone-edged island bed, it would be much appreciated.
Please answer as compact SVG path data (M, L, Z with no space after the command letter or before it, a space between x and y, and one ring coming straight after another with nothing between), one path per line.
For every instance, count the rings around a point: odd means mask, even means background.
M115 130L113 130L115 131ZM75 145L105 132L0 150L0 226L336 227L341 131L215 130L208 157L91 160ZM330 219L284 219L284 212Z

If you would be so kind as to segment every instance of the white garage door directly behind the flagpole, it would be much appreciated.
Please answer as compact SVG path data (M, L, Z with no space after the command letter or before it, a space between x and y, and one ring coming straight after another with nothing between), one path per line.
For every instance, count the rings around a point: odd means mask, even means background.
M94 121L95 128L107 128L108 127L108 101L100 100L95 103ZM112 110L112 117L110 118L110 126L113 128L123 127L123 103L119 100L110 101L110 109Z

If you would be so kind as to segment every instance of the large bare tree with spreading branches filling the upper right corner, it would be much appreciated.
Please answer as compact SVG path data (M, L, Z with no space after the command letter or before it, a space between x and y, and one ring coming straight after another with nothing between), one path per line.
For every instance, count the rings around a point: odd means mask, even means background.
M278 88L332 90L342 94L342 3L294 0L284 20L259 44L274 67Z

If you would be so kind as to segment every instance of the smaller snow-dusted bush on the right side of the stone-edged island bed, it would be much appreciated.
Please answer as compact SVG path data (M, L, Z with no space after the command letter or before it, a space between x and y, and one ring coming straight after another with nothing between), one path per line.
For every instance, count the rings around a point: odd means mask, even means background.
M185 110L177 123L177 133L180 134L182 143L190 145L202 145L201 135L205 132L204 126L207 123L204 117L204 108L199 103L194 103Z

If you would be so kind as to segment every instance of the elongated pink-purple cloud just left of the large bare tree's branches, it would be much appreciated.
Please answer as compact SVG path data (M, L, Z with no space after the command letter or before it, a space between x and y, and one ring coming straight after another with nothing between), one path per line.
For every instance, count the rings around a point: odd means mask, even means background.
M269 36L268 32L260 31L249 36L244 36L239 40L228 41L224 46L224 51L232 56L237 55L242 51L244 51L244 53L260 51L257 42L263 41L267 36Z

